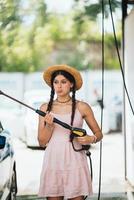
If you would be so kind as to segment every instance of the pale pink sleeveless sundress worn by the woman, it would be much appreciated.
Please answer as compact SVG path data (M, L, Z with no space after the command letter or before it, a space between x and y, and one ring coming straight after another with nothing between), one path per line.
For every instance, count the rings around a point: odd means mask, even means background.
M70 124L71 114L53 114ZM78 109L74 127L82 127L83 119ZM91 176L85 152L76 152L69 140L70 131L55 124L53 135L45 150L39 197L74 198L92 194ZM78 143L75 146L80 148Z

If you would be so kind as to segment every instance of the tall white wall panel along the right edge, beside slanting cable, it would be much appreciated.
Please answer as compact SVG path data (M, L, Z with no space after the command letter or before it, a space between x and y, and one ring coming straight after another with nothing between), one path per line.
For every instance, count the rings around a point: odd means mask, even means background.
M134 10L125 20L125 79L134 108ZM127 179L134 186L134 115L125 97Z

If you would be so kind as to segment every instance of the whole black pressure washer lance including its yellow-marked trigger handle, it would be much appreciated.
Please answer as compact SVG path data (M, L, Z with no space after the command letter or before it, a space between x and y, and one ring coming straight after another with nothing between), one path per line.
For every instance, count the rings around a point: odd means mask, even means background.
M44 116L46 115L45 112L43 112L43 111L41 111L41 110L38 110L38 109L35 109L35 108L33 108L33 107L31 107L31 106L29 106L29 105L23 103L23 102L21 102L21 101L15 99L15 98L13 98L13 97L11 97L11 96L5 94L4 92L2 92L1 90L0 90L0 95L4 95L4 96L6 96L6 97L12 99L13 101L16 101L16 102L20 103L21 105L23 105L23 106L25 106L25 107L27 107L27 108L33 110L34 112L36 112L37 114L41 115L42 117L44 117ZM62 121L60 121L59 119L57 119L57 118L55 118L55 117L54 117L54 119L53 119L53 122L54 122L54 123L57 123L57 124L59 124L59 125L61 125L62 127L66 128L66 129L69 129L69 130L71 131L71 137L70 137L70 138L71 138L71 141L72 141L75 137L83 137L83 136L87 135L85 129L77 128L77 127L72 127L72 126L70 126L69 124L67 124L67 123L65 123L65 122L62 122ZM89 147L90 147L90 145L82 145L82 148L81 148L81 149L78 149L78 150L75 149L75 150L76 150L76 151L88 150Z

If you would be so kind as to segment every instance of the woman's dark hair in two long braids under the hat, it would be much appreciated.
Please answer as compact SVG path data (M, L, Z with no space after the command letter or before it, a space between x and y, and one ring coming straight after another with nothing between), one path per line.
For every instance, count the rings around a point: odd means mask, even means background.
M53 81L57 75L63 75L66 79L68 79L71 83L73 83L73 87L71 88L71 91L72 91L72 113L71 113L71 122L70 122L70 124L72 126L73 121L74 121L74 116L75 116L75 109L76 109L76 99L75 99L76 83L75 83L74 77L70 73L68 73L64 70L58 70L52 74L52 77L51 77L52 89L51 89L51 94L50 94L50 100L49 100L49 103L47 106L47 111L50 112L52 110L53 99L54 99L54 94L55 94L55 91L53 88Z

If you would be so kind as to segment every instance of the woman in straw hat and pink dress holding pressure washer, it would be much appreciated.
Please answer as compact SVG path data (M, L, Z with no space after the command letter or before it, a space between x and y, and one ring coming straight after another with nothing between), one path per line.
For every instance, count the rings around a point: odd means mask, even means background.
M38 141L40 146L47 145L47 148L39 196L48 200L83 200L85 195L92 194L86 154L84 151L74 151L70 131L54 123L53 118L79 128L83 120L86 121L93 134L75 138L74 145L77 148L96 143L103 136L91 107L75 98L76 90L82 86L82 77L76 69L67 65L54 65L45 70L43 77L51 87L51 95L50 101L40 108L47 114L39 117Z

